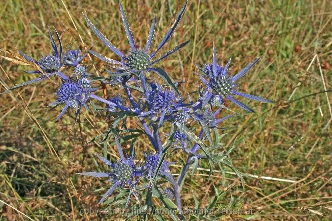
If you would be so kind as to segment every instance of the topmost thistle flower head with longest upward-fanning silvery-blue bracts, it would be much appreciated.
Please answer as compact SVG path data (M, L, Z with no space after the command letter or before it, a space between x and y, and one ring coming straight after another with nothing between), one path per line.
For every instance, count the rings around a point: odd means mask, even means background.
M153 71L153 65L155 63L157 63L158 61L172 55L174 52L178 51L180 48L184 47L189 41L186 41L184 43L181 43L179 45L177 45L176 47L174 47L171 51L163 54L162 56L160 56L159 58L153 60L153 58L155 57L155 55L159 52L159 50L162 48L162 46L171 38L174 30L176 29L178 23L180 22L182 15L184 13L184 10L187 6L187 2L185 3L185 5L182 7L181 11L179 12L178 16L176 17L175 22L173 23L172 27L169 29L169 31L167 32L167 34L163 37L163 39L161 40L161 42L159 43L159 45L157 46L157 50L151 54L149 54L149 49L150 49L150 45L152 43L153 40L153 36L154 36L154 31L155 31L155 27L156 27L156 20L157 18L154 17L153 21L152 21L152 25L149 31L149 36L148 36L148 41L147 41L147 45L145 47L145 49L137 49L136 44L134 42L134 38L132 35L132 32L130 30L129 24L128 24L128 20L126 17L126 13L125 10L122 6L122 3L120 1L120 12L121 12L121 17L122 17L122 21L124 24L124 28L125 28L125 32L131 47L131 50L129 52L128 56L125 56L120 50L118 50L106 37L105 35L103 35L95 26L94 24L87 18L86 15L84 15L84 18L88 24L88 26L91 28L91 30L94 32L94 34L97 35L97 37L113 52L115 53L117 56L119 56L122 60L124 60L125 62L120 62L120 61L116 61L113 59L110 59L106 56L103 56L97 52L94 52L92 50L89 50L89 53L98 57L99 59L112 64L112 65L124 65L124 67L116 67L117 69L122 69L125 70L128 73L132 73L132 72L138 72L138 71Z

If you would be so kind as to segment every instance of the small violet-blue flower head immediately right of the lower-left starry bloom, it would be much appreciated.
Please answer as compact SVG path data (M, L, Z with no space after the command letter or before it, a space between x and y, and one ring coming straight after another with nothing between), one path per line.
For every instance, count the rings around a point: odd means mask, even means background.
M161 155L160 153L159 154L147 154L147 153L144 153L144 157L145 157L144 168L147 171L147 177L150 178L150 179L156 173L160 155ZM170 164L172 164L172 163L168 163L166 160L164 160L161 163L161 167L159 169L159 173L160 174L169 173L170 172L170 168L169 168Z

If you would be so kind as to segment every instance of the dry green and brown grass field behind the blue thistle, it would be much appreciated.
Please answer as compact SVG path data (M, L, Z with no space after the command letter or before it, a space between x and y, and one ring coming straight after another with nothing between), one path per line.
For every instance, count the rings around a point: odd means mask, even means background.
M183 0L171 0L170 11L167 0L124 0L136 44L145 46L156 14L155 47L183 4ZM117 1L9 0L0 5L1 56L12 57L6 51L17 54L17 49L34 58L47 54L51 51L48 27L54 26L65 48L80 46L84 51L97 42L94 50L115 58L87 28L82 12L118 48L129 49ZM223 124L237 126L223 131L226 145L237 137L231 155L234 165L258 176L246 177L243 189L236 176L226 175L225 188L231 187L233 197L241 197L243 208L253 210L257 216L252 220L332 220L331 9L329 1L189 1L172 40L163 48L165 52L191 39L160 64L173 80L186 81L183 94L196 88L193 62L211 61L212 42L223 65L232 58L229 72L233 74L261 57L240 80L240 87L276 103L250 102L256 113L240 110ZM104 63L95 58L93 63L85 61L90 72L104 74ZM22 71L31 70L29 66L3 57L0 65L0 91L33 78ZM84 144L108 128L107 120L83 112L81 124L74 126L74 113L68 112L55 123L59 109L48 112L47 106L54 101L56 88L43 82L0 95L0 220L29 220L27 216L33 220L106 220L103 215L81 211L95 208L108 184L75 173L103 168L93 155L102 153L102 146ZM117 89L107 87L103 92L112 94ZM136 122L128 124L135 127ZM147 137L138 139L137 148L151 150ZM109 146L109 154L116 156L114 146ZM172 158L178 161L172 173L178 174L184 155L177 152ZM204 170L188 176L182 190L183 207L195 205L194 194L204 207L214 193L213 185L223 189L218 171L209 179ZM229 200L230 196L220 203ZM224 220L241 219L228 215Z

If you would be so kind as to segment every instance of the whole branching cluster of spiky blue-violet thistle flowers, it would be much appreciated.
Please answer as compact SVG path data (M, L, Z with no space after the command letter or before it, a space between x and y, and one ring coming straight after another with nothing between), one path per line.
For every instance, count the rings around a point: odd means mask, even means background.
M106 100L96 95L94 92L96 92L98 88L92 88L92 79L87 74L86 68L83 65L80 65L86 54L82 55L80 50L69 50L66 53L63 53L61 40L57 32L56 36L60 44L59 50L50 31L50 39L53 48L53 53L51 55L42 57L39 61L35 61L31 57L20 52L28 61L33 62L40 67L40 70L27 72L39 73L40 77L16 85L12 89L40 82L55 76L61 78L62 85L56 92L57 100L52 106L54 108L63 104L64 108L56 120L62 117L68 108L75 109L77 114L79 114L84 107L90 110L88 105L89 102L97 100L106 104L106 110L113 115L120 116L121 113L129 113L128 115L137 117L143 126L142 128L145 130L145 134L150 139L154 153L144 153L144 161L135 163L135 152L133 152L130 157L125 157L124 151L117 138L118 135L114 133L114 139L116 141L118 153L120 154L120 160L112 163L108 159L97 155L98 158L108 166L109 170L104 173L81 173L81 175L85 176L110 178L109 181L111 181L113 185L103 195L99 203L104 202L116 188L126 187L129 187L130 194L133 194L139 201L139 192L136 189L138 183L146 183L146 187L148 188L155 184L156 177L158 177L168 181L170 183L169 186L172 186L172 188L168 187L163 189L161 193L164 194L164 197L175 199L176 206L181 210L180 186L188 171L188 165L195 159L208 158L206 150L202 151L201 154L199 152L200 148L203 148L202 142L205 142L205 139L208 139L210 143L213 143L210 135L211 131L218 129L219 124L222 121L235 115L225 115L223 118L217 119L217 114L221 112L222 109L229 111L229 109L224 106L224 99L228 99L235 105L249 112L254 111L247 105L236 100L234 98L235 96L242 96L259 102L271 102L262 97L240 92L235 84L238 79L244 76L245 73L256 64L258 59L254 60L232 77L228 73L230 60L224 67L221 66L217 62L215 45L212 48L212 62L203 67L197 65L200 71L197 75L199 75L201 82L205 86L202 86L199 91L192 92L198 94L198 96L195 96L196 101L194 101L189 94L186 98L183 97L178 90L179 83L173 83L162 68L156 67L157 62L172 55L189 42L186 41L181 43L171 51L154 59L162 46L171 38L186 6L187 3L182 7L172 27L168 30L158 44L156 50L152 53L150 53L150 45L153 41L156 17L152 21L146 47L144 49L138 49L120 1L121 17L131 46L131 50L125 55L118 50L105 37L105 35L94 26L94 24L92 24L86 15L84 15L84 18L93 33L96 34L96 36L115 55L120 57L120 61L118 61L101 55L98 52L92 50L88 51L91 55L108 63L109 67L113 69L107 69L109 76L105 78L99 77L98 80L111 86L117 85L123 88L126 98L114 96L109 97L109 99ZM63 69L67 70L68 68L66 67L75 67L74 73L70 74L68 77L61 72ZM158 83L156 80L157 78L162 79L164 83ZM135 97L131 94L131 91L133 90L135 90ZM169 134L166 132L161 133L162 130L167 130L167 128L163 127L165 126L165 122L171 122L172 129L168 131ZM202 128L199 136L196 136L194 131L191 130L191 128L195 128L192 127L194 124L198 124ZM162 144L161 137L165 134L167 135L166 140L168 142ZM169 168L174 162L169 162L166 159L168 155L165 153L169 146L169 140L171 140L172 145L176 147L176 149L181 149L188 155L187 162L177 180L172 176ZM189 143L192 144L189 145Z

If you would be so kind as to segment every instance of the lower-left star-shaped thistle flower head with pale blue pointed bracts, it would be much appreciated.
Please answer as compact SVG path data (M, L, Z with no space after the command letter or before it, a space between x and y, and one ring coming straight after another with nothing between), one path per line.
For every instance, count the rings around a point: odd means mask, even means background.
M115 190L116 187L123 188L125 185L129 185L131 191L135 195L136 199L138 198L138 194L135 190L135 181L134 177L139 176L140 172L137 170L136 165L134 163L134 155L131 158L126 159L124 157L122 148L120 146L120 142L118 141L117 137L115 136L116 141L116 148L120 154L120 160L116 161L115 163L111 163L109 160L99 156L97 157L103 161L107 166L109 166L109 171L106 173L99 173L99 172L85 172L85 173L78 173L83 176L90 176L90 177L109 177L108 181L112 181L113 185L110 187L107 192L103 195L102 199L99 201L98 204L103 203Z

